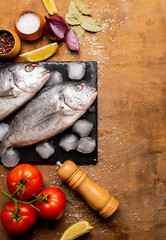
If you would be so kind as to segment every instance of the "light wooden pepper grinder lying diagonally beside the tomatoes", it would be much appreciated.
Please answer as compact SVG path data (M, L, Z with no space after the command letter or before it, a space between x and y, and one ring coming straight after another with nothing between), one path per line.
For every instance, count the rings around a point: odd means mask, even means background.
M119 202L96 183L92 182L72 161L66 161L58 169L58 176L79 192L86 202L104 219L118 208Z

